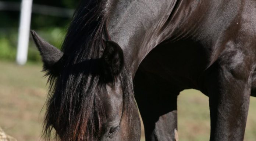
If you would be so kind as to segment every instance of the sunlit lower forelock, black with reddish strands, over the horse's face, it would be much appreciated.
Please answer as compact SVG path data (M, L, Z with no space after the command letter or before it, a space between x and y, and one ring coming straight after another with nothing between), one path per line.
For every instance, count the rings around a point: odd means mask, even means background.
M62 77L62 76L61 76ZM57 78L49 91L45 116L45 136L50 139L52 127L56 137L68 141L94 141L106 122L106 112L100 90L104 86L100 76L74 74ZM126 119L132 111L132 79L125 68L120 75L123 91L123 114ZM102 89L99 89L102 88ZM126 123L129 123L126 122Z

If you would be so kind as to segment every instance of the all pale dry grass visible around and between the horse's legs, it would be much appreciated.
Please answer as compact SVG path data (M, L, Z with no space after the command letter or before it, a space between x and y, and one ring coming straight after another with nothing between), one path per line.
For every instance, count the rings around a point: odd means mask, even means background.
M42 64L17 66L0 61L0 126L18 141L43 140L42 107L47 86L41 70ZM245 141L256 138L255 109L256 98L251 97ZM209 140L208 97L197 90L182 91L178 97L178 133L180 141Z

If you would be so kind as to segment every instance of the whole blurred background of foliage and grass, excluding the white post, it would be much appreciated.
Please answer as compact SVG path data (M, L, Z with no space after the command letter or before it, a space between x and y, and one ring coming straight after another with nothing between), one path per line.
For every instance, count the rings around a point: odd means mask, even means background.
M34 0L31 29L60 47L78 1ZM28 62L15 63L20 7L21 0L0 0L0 127L18 141L41 141L47 78L31 37ZM255 109L256 98L251 97L245 141L256 138ZM178 97L178 134L180 141L209 140L208 98L197 90L185 90Z

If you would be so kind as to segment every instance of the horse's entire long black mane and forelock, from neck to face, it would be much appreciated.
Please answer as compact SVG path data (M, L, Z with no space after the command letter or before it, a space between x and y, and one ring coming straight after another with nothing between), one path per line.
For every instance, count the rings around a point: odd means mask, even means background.
M102 132L106 113L100 90L106 82L97 63L104 51L107 33L107 1L81 1L68 28L61 51L64 56L59 75L49 75L49 94L43 136L56 140L93 141ZM133 102L132 78L125 64L120 74L123 91L123 117L129 117ZM129 118L127 118L129 119Z

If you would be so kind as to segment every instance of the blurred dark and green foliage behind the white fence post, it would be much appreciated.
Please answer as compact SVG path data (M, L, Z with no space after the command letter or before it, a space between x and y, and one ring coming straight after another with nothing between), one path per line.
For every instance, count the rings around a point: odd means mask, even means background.
M3 0L20 3L21 0ZM74 9L78 0L33 0L33 4ZM0 11L0 59L14 61L17 52L19 11ZM32 14L31 29L38 32L46 41L56 47L61 46L71 18L61 18L40 14ZM41 60L38 50L32 41L29 42L28 61Z

